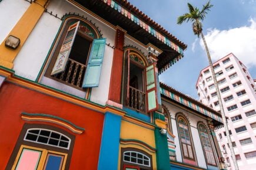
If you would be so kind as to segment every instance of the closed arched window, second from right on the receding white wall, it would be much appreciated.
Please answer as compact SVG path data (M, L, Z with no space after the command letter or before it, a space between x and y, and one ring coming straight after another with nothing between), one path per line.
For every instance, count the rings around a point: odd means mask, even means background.
M177 125L179 132L179 141L184 163L197 165L195 161L195 152L191 138L190 127L188 121L182 115L177 116Z

